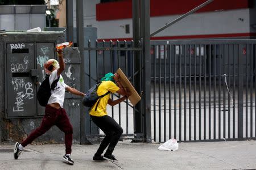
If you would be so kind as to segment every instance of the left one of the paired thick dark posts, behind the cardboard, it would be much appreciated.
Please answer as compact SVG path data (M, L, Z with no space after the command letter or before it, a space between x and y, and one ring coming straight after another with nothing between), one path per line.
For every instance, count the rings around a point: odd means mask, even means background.
M138 0L133 0L133 41L134 47L139 47L139 40L141 40L140 35L140 27L139 27L139 3ZM134 51L134 71L137 72L139 70L139 59L140 59L140 52ZM134 78L134 88L137 90L138 94L141 94L140 91L140 82L139 82L139 74L135 75ZM134 112L134 134L141 134L142 133L142 111L141 111L142 103L139 102L135 105L135 109L138 112ZM136 135L137 136L137 135ZM137 139L135 139L137 141Z

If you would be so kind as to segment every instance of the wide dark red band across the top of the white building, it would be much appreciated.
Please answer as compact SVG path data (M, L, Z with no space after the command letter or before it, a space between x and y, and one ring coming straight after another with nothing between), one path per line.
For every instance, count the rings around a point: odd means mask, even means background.
M204 2L206 0L151 0L150 16L185 14ZM214 0L197 12L249 8L251 6L250 2L250 0ZM132 18L131 0L98 3L96 5L96 20L98 21L127 18Z

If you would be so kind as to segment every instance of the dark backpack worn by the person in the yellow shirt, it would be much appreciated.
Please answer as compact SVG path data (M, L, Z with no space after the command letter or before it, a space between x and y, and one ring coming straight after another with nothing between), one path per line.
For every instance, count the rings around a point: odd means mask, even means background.
M98 86L100 86L101 83L98 83L98 84L95 84L92 88L90 88L85 96L84 96L84 99L82 99L82 104L85 105L86 107L93 107L93 105L97 102L97 105L95 107L95 111L97 110L98 108L98 104L100 103L100 100L102 97L110 94L110 91L106 92L106 94L104 95L101 95L101 96L98 96L97 95L97 89L98 89Z

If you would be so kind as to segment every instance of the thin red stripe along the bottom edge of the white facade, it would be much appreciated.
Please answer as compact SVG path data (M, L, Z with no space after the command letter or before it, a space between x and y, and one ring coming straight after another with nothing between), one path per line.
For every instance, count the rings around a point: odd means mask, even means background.
M151 40L181 40L181 39L221 39L221 38L241 38L241 37L247 37L252 38L256 37L255 33L225 33L225 34L212 34L212 35L185 35L185 36L163 36L163 37L151 37ZM113 38L113 39L98 39L98 41L130 41L133 40L133 38Z

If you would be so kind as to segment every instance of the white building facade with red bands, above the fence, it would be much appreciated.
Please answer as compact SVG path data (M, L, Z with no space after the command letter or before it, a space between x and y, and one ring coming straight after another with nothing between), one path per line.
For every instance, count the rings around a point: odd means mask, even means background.
M205 0L151 0L150 32L156 31L204 2ZM214 0L151 39L254 39L255 6L255 0ZM75 7L74 2L76 27ZM96 27L99 40L130 40L133 37L132 24L132 0L84 0L84 26Z

